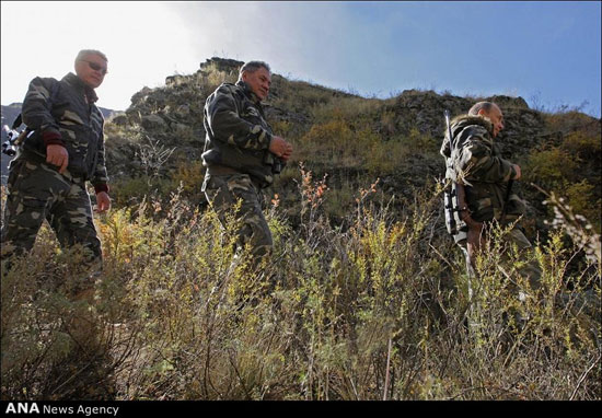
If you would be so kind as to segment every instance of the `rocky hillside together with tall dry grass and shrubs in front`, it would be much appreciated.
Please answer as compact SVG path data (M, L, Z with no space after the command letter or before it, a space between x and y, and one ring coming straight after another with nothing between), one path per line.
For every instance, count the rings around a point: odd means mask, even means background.
M602 397L600 307L583 303L600 300L600 119L483 97L505 112L535 251L486 248L470 302L439 147L443 109L478 97L364 98L274 74L266 113L294 154L267 190L275 254L253 269L233 260L236 221L222 230L200 193L205 98L240 65L207 60L107 121L94 297L78 291L78 248L45 228L2 277L3 399ZM536 290L512 268L532 259Z

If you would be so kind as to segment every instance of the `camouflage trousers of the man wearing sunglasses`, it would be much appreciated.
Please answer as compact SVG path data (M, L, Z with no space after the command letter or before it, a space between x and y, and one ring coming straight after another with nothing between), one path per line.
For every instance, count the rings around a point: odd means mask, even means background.
M46 219L60 245L81 244L90 262L101 263L101 241L92 218L85 182L59 174L43 162L16 159L11 163L2 227L2 258L28 252Z

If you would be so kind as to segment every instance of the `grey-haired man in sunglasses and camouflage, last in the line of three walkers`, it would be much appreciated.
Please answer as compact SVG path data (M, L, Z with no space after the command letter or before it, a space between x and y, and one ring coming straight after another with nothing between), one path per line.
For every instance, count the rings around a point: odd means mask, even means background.
M47 219L61 246L81 244L91 263L102 262L85 182L94 186L97 211L108 210L104 118L94 104L94 89L107 71L106 56L81 50L74 69L60 81L35 78L30 83L22 117L33 133L10 166L3 258L30 251Z

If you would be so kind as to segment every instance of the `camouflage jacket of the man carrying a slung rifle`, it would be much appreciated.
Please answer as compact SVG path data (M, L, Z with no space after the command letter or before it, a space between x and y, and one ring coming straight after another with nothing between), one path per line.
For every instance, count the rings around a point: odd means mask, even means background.
M513 163L501 158L494 142L491 123L481 116L461 115L451 121L453 140L448 132L441 154L445 158L445 177L461 181L466 204L474 220L500 220L508 182L516 176ZM524 214L524 202L513 193L506 208L505 223Z

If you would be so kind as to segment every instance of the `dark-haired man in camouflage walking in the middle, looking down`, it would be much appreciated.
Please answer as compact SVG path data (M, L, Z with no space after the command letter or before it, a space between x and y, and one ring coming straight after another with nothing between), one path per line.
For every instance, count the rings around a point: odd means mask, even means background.
M236 84L221 84L205 103L207 132L202 191L222 224L241 201L238 246L251 244L255 260L271 252L271 233L262 211L262 189L269 186L292 153L292 146L274 135L261 101L271 84L269 66L248 61Z

